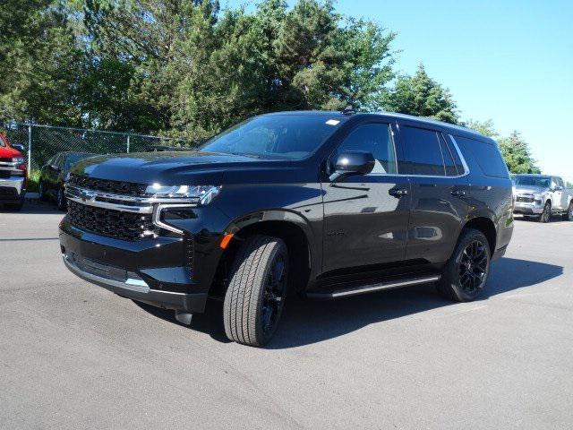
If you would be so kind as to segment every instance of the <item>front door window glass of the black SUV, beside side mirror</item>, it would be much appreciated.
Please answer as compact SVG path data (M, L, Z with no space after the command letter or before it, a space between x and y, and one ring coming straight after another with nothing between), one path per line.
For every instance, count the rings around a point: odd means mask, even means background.
M358 125L338 147L338 154L348 150L362 150L374 157L374 174L395 174L396 151L388 124Z

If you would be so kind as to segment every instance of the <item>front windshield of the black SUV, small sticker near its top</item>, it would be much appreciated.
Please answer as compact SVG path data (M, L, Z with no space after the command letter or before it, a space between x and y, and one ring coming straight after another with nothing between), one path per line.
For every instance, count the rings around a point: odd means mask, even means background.
M201 150L261 158L305 159L345 117L329 115L255 116L205 143Z

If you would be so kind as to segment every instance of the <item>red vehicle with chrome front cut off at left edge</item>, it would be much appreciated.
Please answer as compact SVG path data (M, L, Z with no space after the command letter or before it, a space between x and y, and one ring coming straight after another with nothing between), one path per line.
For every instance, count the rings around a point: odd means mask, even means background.
M21 145L11 145L4 133L0 133L0 205L20 211L28 183L26 160L21 154Z

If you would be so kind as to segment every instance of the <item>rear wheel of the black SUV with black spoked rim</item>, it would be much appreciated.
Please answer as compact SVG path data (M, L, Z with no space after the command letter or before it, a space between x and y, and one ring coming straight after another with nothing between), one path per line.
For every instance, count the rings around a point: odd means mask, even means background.
M459 236L458 245L436 287L442 296L450 300L471 302L483 291L491 263L492 254L487 238L479 230L466 228Z

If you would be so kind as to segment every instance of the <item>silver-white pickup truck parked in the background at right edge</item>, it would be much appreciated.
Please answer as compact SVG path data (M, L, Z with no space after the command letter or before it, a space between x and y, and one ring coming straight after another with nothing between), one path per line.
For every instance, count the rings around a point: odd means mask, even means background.
M512 175L513 213L535 216L548 222L552 215L573 221L573 189L565 186L560 176Z

